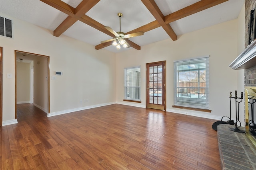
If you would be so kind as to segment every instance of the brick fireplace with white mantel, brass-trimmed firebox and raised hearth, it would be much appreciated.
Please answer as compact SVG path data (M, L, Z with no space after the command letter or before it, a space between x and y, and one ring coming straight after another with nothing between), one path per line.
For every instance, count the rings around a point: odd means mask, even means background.
M244 70L245 86L245 126L241 127L246 133L230 131L232 125L218 125L218 142L222 169L252 169L256 170L256 136L251 131L254 128L253 117L256 123L256 39L251 39L250 15L256 6L256 0L245 0L245 50L230 64L234 70ZM256 9L254 10L256 14ZM254 18L256 15L254 14ZM254 21L254 27L256 22ZM251 27L252 28L252 27ZM255 27L256 31L256 27ZM253 102L252 102L253 103ZM252 108L254 108L254 113ZM242 117L242 116L241 116ZM253 126L252 126L253 125Z

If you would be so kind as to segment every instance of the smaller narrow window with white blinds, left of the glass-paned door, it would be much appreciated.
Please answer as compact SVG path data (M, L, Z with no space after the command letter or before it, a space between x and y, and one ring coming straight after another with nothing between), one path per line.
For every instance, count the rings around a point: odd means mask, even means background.
M124 99L140 101L140 66L124 69Z

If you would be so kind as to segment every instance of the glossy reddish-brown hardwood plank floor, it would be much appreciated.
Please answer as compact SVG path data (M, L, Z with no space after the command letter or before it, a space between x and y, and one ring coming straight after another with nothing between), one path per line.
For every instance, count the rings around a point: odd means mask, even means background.
M219 170L216 120L114 104L46 117L18 104L0 169Z

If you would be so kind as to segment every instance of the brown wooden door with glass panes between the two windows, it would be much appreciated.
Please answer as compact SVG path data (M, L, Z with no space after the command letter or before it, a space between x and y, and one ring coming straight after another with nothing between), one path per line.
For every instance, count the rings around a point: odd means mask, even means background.
M146 64L146 107L166 110L166 61Z

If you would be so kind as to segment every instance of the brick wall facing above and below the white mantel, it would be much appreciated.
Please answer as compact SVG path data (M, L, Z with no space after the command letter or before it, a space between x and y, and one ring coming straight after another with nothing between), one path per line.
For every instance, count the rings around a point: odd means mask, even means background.
M245 48L249 44L249 20L250 12L255 8L256 0L245 0ZM244 70L244 85L256 86L256 63L255 66Z

